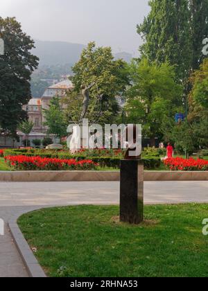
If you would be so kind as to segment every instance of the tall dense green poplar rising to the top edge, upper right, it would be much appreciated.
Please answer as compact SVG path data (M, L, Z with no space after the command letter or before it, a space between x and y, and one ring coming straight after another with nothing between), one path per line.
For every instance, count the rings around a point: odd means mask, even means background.
M144 39L141 54L158 64L175 65L184 80L191 68L190 12L188 0L152 0L150 13L137 32Z

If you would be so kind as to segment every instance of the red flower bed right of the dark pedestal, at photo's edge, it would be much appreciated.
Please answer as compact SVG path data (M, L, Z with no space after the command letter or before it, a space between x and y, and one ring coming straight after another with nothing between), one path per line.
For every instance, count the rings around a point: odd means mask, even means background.
M164 160L164 165L170 170L208 170L208 161L204 159L176 157Z

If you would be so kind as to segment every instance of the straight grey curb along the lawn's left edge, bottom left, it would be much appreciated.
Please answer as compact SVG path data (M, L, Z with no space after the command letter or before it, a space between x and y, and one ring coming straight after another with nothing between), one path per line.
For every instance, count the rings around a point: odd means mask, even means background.
M14 216L8 222L8 228L17 247L17 250L24 262L26 270L28 271L29 276L32 278L46 278L46 274L42 270L40 264L37 262L37 259L35 258L33 252L31 251L31 248L29 247L26 239L24 238L21 230L17 225L17 219L17 216Z

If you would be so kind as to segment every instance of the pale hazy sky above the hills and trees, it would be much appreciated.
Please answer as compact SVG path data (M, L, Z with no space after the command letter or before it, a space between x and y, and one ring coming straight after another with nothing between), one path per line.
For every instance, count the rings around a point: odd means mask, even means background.
M0 16L15 16L34 39L112 46L136 53L137 24L148 0L0 0Z

